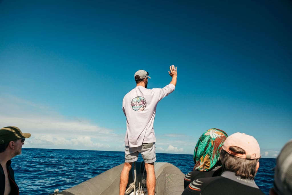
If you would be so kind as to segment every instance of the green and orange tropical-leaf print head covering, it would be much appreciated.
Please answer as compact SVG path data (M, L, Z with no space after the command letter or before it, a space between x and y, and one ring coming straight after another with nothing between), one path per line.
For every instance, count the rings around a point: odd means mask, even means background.
M194 170L208 171L218 162L227 134L220 129L209 129L199 138L194 150Z

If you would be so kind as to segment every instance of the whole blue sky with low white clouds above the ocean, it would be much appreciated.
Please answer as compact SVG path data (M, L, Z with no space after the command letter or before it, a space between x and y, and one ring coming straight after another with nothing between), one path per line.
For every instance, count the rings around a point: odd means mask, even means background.
M0 1L0 126L24 147L123 151L134 73L171 81L156 151L192 154L218 128L263 157L292 138L291 1Z

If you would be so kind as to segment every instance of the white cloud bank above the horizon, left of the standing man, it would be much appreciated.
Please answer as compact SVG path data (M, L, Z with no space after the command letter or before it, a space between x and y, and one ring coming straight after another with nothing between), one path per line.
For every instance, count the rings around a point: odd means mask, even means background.
M9 96L0 97L0 127L17 126L31 133L24 147L119 150L124 135L87 120L68 119L50 108ZM110 149L109 149L110 148Z

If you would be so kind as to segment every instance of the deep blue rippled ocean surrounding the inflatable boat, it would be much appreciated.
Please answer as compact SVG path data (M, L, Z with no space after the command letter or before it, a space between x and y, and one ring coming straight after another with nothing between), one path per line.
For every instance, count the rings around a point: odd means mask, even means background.
M184 174L194 167L193 155L157 153L156 162L168 162ZM138 161L143 161L141 155ZM124 152L32 149L23 148L22 154L12 159L15 180L20 195L52 194L84 182L100 173L124 163ZM276 165L274 158L261 158L255 181L258 187L269 194L273 185L271 170Z

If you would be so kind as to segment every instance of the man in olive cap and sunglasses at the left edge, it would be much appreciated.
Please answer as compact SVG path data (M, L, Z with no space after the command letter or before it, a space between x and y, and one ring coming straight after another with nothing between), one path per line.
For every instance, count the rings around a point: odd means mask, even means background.
M19 194L11 168L11 158L21 154L25 138L30 136L30 133L22 133L18 127L0 129L0 195Z

